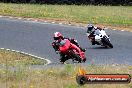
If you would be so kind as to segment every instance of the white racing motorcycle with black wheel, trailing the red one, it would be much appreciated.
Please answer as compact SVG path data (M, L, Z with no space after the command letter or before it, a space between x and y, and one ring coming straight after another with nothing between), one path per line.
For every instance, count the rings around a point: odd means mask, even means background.
M104 30L97 31L95 33L95 42L97 45L113 48L113 45L110 42L110 37L106 34Z

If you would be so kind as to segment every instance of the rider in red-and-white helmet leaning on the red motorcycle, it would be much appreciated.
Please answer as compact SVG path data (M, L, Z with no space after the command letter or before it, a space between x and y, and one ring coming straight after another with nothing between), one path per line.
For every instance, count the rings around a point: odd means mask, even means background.
M65 38L64 36L62 36L62 34L60 32L55 32L54 33L54 42L52 43L52 46L53 46L53 48L54 48L54 50L55 50L56 53L59 52L59 43L61 42L61 40L64 40L64 39L68 39L73 44L73 48L77 49L77 51L79 51L79 52L81 52L81 51L85 52L85 49L82 49L75 39ZM69 58L65 54L60 53L60 62L64 63L68 59Z

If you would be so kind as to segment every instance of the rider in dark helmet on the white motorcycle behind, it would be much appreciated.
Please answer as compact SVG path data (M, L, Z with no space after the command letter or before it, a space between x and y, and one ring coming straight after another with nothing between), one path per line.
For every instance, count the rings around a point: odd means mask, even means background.
M100 27L95 27L92 24L89 24L87 26L87 35L89 40L91 41L92 45L98 44L98 42L95 41L95 36L99 33L99 31L103 30Z

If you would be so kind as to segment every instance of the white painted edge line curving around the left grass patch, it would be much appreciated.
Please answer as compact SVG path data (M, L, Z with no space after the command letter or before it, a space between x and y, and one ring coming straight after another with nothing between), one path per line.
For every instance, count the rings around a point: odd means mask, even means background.
M45 59L45 58L42 58L42 57L39 57L39 56L36 56L36 55L33 55L33 54L29 54L29 53L25 53L25 52L17 51L17 50L12 50L12 49L5 49L5 48L0 48L0 49L7 50L7 51L13 51L13 52L17 52L17 53L22 53L22 54L25 54L25 55L28 55L28 56L32 56L32 57L35 57L35 58L38 58L38 59L46 60L47 63L45 65L48 65L48 64L51 63L51 61L49 59Z

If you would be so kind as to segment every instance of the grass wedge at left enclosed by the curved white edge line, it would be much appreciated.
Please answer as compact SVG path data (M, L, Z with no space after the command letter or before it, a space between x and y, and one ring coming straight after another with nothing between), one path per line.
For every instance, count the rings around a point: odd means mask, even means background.
M0 49L0 66L20 66L20 65L26 66L26 65L44 65L44 64L46 64L45 60Z

